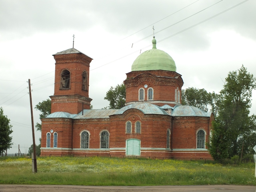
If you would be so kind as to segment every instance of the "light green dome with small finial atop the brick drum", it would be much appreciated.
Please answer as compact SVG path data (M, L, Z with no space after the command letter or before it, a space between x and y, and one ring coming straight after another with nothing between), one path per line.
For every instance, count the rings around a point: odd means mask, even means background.
M140 54L132 64L132 71L166 70L175 71L176 65L172 57L166 52L156 48L153 37L153 48Z

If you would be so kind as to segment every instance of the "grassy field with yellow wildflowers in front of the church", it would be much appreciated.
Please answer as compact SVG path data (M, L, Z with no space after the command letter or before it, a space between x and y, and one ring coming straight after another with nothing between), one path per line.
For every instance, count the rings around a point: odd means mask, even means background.
M64 185L256 185L255 163L221 165L204 161L100 157L0 158L0 184Z

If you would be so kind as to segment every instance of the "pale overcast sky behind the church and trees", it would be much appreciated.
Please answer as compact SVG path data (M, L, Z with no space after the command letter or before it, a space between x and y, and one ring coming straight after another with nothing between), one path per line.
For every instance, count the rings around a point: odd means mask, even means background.
M181 32L243 1L0 0L0 106L13 125L14 143L8 153L18 152L18 144L26 153L32 144L28 79L34 108L54 94L52 54L72 48L73 34L74 48L94 59L89 90L94 109L108 106L104 96L110 86L126 79L141 49L152 48L153 24L156 47L176 62L183 88L219 92L228 72L242 64L256 76L256 1L248 0ZM256 91L254 114L255 96ZM34 109L34 124L40 123L39 114ZM35 134L39 144L41 133Z

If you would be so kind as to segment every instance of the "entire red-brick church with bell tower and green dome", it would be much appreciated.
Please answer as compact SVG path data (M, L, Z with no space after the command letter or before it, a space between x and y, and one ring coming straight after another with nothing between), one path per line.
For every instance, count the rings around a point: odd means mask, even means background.
M206 143L214 115L182 106L182 75L172 57L156 48L155 37L126 74L121 109L90 109L92 58L75 48L53 56L54 94L51 114L41 119L41 156L211 158Z

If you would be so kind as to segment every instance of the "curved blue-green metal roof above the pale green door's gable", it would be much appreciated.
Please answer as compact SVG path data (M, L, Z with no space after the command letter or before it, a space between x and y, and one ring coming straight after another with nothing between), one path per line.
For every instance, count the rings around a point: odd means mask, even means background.
M156 106L154 104L141 102L127 105L120 110L116 111L114 115L123 114L128 109L138 109L142 111L144 114L160 114L160 115L169 115L165 110Z

